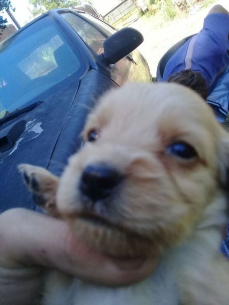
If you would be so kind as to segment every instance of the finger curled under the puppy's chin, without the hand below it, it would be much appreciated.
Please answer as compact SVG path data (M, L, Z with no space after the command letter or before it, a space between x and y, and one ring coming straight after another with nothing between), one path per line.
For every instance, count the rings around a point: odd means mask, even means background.
M148 259L137 267L126 268L128 264L85 245L64 221L30 210L5 212L0 216L0 232L4 227L5 233L0 236L4 235L5 245L0 249L0 257L5 257L5 265L9 266L39 264L92 282L123 285L150 275L157 263Z

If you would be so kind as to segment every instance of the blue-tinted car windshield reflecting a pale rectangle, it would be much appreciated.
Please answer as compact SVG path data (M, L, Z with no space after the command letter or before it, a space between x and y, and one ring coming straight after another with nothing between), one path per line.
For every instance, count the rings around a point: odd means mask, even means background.
M75 49L47 16L0 44L0 118L78 79L86 64Z

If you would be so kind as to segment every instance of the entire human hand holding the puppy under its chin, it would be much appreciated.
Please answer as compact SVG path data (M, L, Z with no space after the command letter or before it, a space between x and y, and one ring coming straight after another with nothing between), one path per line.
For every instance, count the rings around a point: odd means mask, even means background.
M35 211L14 208L0 215L1 305L34 304L46 268L117 286L146 278L156 264L117 262L87 247L64 221Z

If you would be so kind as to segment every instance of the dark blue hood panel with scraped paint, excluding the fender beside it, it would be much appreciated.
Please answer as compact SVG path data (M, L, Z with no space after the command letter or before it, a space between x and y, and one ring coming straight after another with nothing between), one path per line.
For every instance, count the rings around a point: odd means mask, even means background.
M20 163L29 163L44 168L48 167L78 87L79 81L68 84L32 111L24 113L2 126L0 143L9 129L20 125L19 122L25 125L15 145L0 153L0 212L14 206L35 207L30 194L25 192L17 166Z

